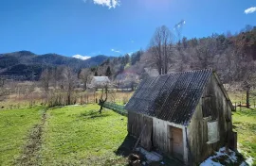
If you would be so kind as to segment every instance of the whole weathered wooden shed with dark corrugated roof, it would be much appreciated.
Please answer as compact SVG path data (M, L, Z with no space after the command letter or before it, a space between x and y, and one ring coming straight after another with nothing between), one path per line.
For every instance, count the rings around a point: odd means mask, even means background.
M125 106L128 132L147 150L196 165L220 147L236 148L229 96L211 70L144 79Z

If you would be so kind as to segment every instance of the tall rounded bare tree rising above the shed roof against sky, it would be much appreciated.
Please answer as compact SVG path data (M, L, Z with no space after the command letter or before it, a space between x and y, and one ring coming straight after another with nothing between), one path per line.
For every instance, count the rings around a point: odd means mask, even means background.
M159 75L167 74L173 49L173 35L170 29L162 25L157 27L150 42L149 52Z

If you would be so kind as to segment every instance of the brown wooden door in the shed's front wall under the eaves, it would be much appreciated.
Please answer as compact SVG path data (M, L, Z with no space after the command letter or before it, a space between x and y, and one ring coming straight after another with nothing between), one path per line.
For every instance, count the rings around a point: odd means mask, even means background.
M183 135L182 129L169 125L169 142L170 142L170 152L174 158L183 160Z

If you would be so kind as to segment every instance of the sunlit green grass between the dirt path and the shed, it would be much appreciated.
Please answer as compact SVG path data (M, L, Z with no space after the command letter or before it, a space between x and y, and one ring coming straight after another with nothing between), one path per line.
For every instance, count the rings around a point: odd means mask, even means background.
M127 135L127 118L99 106L51 108L43 134L43 165L125 163L115 151Z

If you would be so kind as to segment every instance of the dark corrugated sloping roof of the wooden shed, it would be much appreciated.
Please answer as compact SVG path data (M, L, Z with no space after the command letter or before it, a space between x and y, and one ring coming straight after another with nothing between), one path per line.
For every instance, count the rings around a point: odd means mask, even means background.
M211 74L206 69L149 77L139 84L125 108L188 125Z

